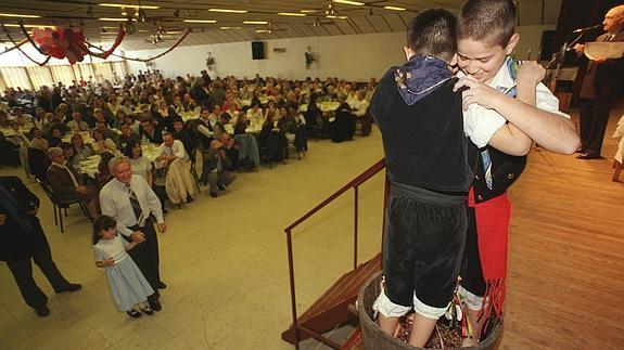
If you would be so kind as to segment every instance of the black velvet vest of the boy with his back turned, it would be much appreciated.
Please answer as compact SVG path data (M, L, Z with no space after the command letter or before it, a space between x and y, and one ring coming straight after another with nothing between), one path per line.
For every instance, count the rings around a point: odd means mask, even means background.
M409 106L398 93L395 70L381 79L370 105L390 179L436 192L467 192L479 152L463 132L461 91L453 92L457 79Z

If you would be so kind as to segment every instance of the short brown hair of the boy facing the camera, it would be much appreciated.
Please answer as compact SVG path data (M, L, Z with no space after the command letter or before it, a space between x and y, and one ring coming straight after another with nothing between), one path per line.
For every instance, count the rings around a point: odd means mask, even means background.
M459 14L457 39L506 48L515 31L512 0L469 0Z

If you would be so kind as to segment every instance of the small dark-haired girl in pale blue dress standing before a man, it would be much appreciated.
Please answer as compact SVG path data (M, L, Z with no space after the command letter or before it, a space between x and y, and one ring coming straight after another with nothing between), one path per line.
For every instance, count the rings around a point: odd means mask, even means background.
M153 314L148 296L154 290L126 250L132 249L137 243L128 243L117 235L117 222L111 217L101 216L93 222L93 252L95 265L104 269L111 296L119 311L126 311L131 317L140 317L135 309L138 306L145 314Z

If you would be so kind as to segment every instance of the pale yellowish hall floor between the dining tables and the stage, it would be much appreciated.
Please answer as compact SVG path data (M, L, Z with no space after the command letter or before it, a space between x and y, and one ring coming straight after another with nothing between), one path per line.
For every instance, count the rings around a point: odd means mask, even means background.
M168 231L160 235L161 267L167 289L163 311L132 320L116 309L104 275L93 264L91 229L77 208L65 233L34 180L56 264L82 290L50 297L50 316L38 317L22 300L12 275L0 263L0 348L2 349L291 349L281 332L291 323L286 242L283 229L382 157L379 132L334 144L310 141L303 160L238 174L218 198L201 197L170 209ZM0 170L20 174L21 169ZM379 251L383 176L360 190L360 259ZM300 313L349 270L353 194L330 205L295 230ZM342 332L342 333L341 333ZM346 337L347 330L335 332ZM317 341L304 349L327 349Z

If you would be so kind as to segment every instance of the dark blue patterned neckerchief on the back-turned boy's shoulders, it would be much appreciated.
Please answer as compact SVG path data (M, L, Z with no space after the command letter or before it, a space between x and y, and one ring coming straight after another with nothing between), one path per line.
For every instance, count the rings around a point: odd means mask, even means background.
M394 73L398 92L410 106L451 77L446 62L429 55L413 55Z

